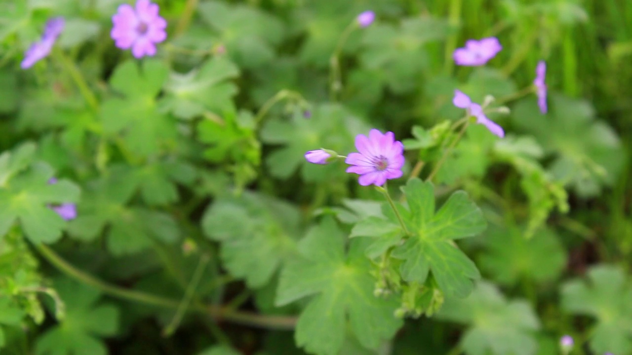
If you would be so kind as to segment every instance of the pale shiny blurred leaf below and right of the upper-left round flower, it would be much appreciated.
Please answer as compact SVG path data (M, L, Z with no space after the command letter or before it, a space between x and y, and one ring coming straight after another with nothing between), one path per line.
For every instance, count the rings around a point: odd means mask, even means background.
M164 88L168 95L159 105L182 119L191 119L207 111L215 114L229 111L238 88L228 80L238 75L239 68L231 61L213 57L201 68L184 75L171 73Z

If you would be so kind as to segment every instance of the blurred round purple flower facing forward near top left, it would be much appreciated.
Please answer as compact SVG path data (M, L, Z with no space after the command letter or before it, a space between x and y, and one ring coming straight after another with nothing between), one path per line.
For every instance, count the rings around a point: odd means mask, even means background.
M153 56L155 44L167 38L167 21L158 15L159 6L149 0L138 0L136 8L130 4L119 6L112 16L114 44L120 49L130 49L134 57Z

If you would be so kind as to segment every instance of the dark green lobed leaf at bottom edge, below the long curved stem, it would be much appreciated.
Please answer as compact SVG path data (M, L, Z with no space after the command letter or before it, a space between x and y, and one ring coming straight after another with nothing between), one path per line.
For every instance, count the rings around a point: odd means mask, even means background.
M106 355L100 337L118 332L118 309L111 304L97 304L99 291L70 279L57 280L55 287L66 304L66 316L39 336L37 354Z

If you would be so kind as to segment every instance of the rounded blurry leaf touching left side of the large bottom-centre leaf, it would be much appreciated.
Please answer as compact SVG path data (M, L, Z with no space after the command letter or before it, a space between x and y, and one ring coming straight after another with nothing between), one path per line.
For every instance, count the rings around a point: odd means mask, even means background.
M296 253L299 219L287 203L244 192L210 205L202 227L208 238L221 242L222 262L229 272L258 288Z

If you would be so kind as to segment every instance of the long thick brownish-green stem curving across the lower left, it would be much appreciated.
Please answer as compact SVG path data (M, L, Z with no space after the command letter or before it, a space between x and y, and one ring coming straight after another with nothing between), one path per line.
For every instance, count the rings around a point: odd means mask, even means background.
M61 272L64 272L64 274L73 277L84 284L95 287L111 296L127 299L129 301L150 304L152 306L159 306L162 308L177 309L180 304L178 301L173 299L154 296L140 291L130 291L128 289L123 289L122 287L107 284L106 282L103 282L102 280L73 267L73 265L66 262L66 260L61 258L61 256L55 253L48 246L44 244L37 244L35 245L35 248L49 263L58 268ZM296 326L296 317L293 316L258 315L252 312L228 310L221 306L205 306L201 304L195 304L190 308L190 310L209 315L217 319L228 320L230 322L240 323L243 325L250 325L252 327L293 329Z

